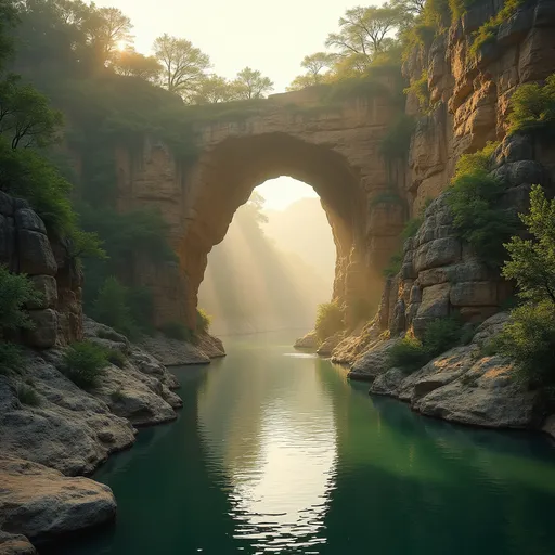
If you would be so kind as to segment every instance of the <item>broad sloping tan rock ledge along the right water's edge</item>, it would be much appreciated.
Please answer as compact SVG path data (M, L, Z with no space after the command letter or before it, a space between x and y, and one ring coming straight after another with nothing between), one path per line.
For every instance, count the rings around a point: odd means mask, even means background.
M427 416L490 428L543 425L555 437L555 415L543 424L538 395L513 379L511 361L482 354L506 319L506 313L488 319L469 345L442 353L413 374L389 367L388 351L396 339L380 340L358 359L349 377L371 383L370 393L400 399Z

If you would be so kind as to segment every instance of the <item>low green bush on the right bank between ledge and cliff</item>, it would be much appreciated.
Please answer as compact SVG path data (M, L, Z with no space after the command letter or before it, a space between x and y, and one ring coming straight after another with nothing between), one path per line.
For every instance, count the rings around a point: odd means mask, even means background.
M430 360L455 347L463 338L462 322L459 318L440 318L428 324L421 340L405 336L390 349L389 366L404 372L415 372Z

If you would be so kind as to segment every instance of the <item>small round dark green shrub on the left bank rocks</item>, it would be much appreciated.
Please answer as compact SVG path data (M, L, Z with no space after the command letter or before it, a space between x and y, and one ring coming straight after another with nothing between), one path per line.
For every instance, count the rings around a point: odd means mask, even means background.
M107 365L105 349L91 341L80 341L65 351L62 371L75 385L90 389L98 385Z

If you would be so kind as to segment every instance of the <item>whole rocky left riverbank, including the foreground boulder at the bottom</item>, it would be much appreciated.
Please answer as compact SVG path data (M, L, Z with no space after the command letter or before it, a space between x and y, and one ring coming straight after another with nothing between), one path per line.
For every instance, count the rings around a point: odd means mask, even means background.
M0 375L2 555L36 553L33 544L113 520L109 488L82 476L132 447L138 427L173 421L182 406L173 392L178 380L156 357L88 318L82 327L86 339L125 357L94 389L85 391L61 372L62 347L28 349L21 374ZM209 361L197 347L178 344L176 350ZM35 391L33 402L23 398L21 384Z

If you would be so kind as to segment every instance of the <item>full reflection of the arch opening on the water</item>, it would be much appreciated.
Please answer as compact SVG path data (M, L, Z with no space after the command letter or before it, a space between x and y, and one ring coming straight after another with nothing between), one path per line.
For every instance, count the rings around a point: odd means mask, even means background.
M210 468L230 483L234 538L256 553L292 546L310 553L325 542L322 528L337 461L334 406L318 367L306 364L313 356L289 354L269 369L266 357L251 353L254 361L241 365L238 375L210 374L198 395ZM222 403L237 382L248 384L242 402Z

